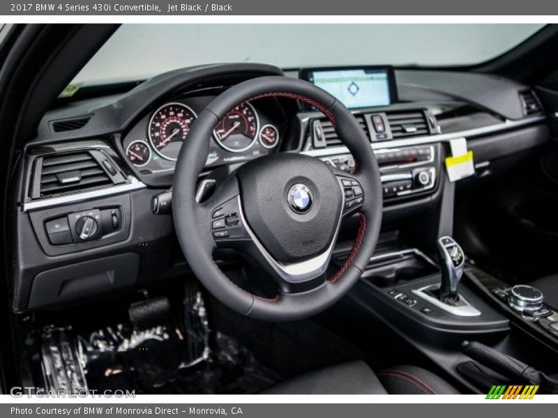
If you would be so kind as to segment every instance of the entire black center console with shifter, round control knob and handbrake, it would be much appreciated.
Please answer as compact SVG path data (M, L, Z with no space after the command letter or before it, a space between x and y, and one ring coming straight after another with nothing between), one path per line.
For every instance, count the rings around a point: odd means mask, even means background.
M558 376L544 370L558 347L558 313L538 289L483 272L448 236L437 240L432 258L401 248L398 235L384 239L345 300L354 320L379 319L370 332L389 328L474 393L495 382L557 393Z

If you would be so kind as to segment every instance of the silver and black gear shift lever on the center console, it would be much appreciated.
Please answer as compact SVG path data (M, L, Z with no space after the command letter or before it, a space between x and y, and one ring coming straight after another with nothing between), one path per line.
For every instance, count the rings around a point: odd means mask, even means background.
M458 284L465 268L465 254L451 237L439 238L437 253L442 269L440 300L442 302L455 302L459 298Z

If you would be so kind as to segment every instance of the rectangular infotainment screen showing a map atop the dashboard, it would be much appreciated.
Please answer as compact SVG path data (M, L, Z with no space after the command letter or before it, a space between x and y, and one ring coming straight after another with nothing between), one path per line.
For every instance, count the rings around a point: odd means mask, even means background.
M391 67L310 68L301 78L323 88L349 109L388 106L397 100Z

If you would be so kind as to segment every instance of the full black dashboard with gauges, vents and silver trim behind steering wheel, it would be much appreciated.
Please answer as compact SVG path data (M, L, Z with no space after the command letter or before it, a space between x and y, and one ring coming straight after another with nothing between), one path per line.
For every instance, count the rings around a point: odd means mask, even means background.
M393 94L382 87L384 77L374 74L359 91L347 79L351 73L342 77L355 98L368 88L384 92L385 105L361 107L365 101L358 98L352 109L379 164L384 228L414 222L439 206L453 139L466 139L479 178L508 155L550 141L541 104L525 85L462 72L393 73ZM14 177L14 311L188 272L169 216L181 144L211 100L229 86L267 75L301 72L250 63L186 68L125 91L61 101L45 114ZM340 171L355 167L331 122L286 98L231 109L207 141L200 195L239 164L271 153L310 155ZM347 219L343 229L354 226Z

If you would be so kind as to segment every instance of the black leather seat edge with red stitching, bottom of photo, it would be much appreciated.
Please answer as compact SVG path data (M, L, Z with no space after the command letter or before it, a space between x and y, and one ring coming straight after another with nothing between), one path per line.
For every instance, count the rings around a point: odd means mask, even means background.
M458 394L430 371L396 366L377 375L365 362L338 364L272 386L263 394Z

